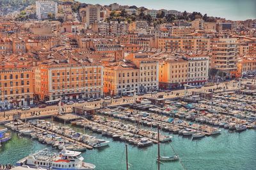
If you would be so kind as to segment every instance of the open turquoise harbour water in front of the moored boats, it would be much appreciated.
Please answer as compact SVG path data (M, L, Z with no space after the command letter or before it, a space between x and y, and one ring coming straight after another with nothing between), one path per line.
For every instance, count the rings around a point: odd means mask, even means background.
M73 127L76 128L76 127ZM76 128L80 132L92 134L89 130ZM168 132L161 132L168 134ZM125 169L125 143L112 141L109 137L92 134L101 139L111 141L108 147L100 150L87 150L83 153L86 162L96 165L96 169ZM170 134L169 134L170 135ZM173 134L171 134L173 135ZM189 137L173 135L172 146L179 154L186 169L255 169L256 167L256 131L246 130L241 133L222 129L222 134L192 140ZM12 132L12 140L0 148L0 163L15 164L42 148L51 148L38 141L20 137ZM57 151L57 150L55 150ZM157 169L157 145L148 148L137 148L128 145L130 169ZM170 144L161 145L161 155L173 155ZM183 169L179 161L165 162L161 169Z

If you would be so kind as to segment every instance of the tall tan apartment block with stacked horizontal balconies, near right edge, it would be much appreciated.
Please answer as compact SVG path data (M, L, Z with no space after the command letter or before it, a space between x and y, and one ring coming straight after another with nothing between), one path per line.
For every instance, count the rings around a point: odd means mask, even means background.
M226 73L237 70L237 38L213 38L211 68Z

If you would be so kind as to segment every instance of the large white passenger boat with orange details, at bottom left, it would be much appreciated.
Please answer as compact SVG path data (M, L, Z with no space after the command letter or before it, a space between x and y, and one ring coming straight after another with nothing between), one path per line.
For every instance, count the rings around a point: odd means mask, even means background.
M83 162L84 158L79 151L62 150L60 154L52 153L49 149L40 150L16 162L16 166L26 165L32 168L61 170L92 170L95 165Z

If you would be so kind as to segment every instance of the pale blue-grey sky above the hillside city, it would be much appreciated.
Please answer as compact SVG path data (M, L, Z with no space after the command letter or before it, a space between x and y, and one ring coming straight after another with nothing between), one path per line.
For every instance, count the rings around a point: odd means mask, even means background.
M88 4L145 6L148 9L201 12L230 20L256 19L256 0L76 0Z

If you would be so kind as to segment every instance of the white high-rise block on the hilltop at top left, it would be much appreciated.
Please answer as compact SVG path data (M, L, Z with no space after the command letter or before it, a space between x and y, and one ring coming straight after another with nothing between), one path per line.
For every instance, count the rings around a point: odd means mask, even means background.
M58 3L54 1L36 1L36 17L39 20L47 19L49 13L52 13L56 17Z

